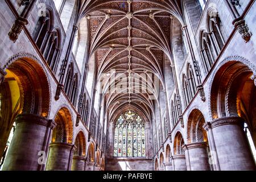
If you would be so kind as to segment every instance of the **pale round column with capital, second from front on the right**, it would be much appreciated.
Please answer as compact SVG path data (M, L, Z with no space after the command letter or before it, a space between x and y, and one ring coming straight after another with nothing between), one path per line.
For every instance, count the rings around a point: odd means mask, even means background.
M207 147L206 142L185 145L185 150L189 153L191 171L210 171Z

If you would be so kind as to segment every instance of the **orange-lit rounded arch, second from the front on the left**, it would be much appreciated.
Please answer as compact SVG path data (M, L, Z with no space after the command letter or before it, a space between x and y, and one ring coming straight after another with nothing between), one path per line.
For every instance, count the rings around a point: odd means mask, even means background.
M55 115L56 128L52 133L52 142L73 143L73 119L67 107L61 107Z

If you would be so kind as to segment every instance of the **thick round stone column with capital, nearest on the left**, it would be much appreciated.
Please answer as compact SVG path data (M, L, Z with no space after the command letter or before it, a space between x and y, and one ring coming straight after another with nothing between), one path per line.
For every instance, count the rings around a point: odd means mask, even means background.
M20 114L15 122L16 129L3 171L36 171L43 165L40 156L46 156L46 144L55 122L34 114Z

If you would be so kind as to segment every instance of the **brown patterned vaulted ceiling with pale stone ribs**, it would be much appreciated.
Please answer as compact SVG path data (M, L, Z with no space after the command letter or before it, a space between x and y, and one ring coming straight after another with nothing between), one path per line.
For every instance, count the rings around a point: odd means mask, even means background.
M139 75L155 75L152 82L157 77L164 88L164 60L172 61L172 19L182 22L179 4L176 0L93 0L79 5L80 17L86 16L88 20L88 55L95 54L97 78L102 82L110 119L126 109L151 119L154 102L159 104L158 86L144 88ZM109 92L109 86L114 84L110 77L118 77L120 73L127 76L127 88ZM134 79L139 85L133 84ZM116 87L123 85L117 80ZM144 92L135 93L134 89L138 88Z

